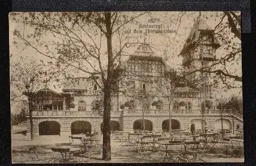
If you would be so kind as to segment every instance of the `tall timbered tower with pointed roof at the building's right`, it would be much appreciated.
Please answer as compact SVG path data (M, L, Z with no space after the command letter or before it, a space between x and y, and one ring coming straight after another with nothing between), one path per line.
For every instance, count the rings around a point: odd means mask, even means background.
M204 84L208 97L211 96L210 82L213 81L213 73L207 72L207 69L216 60L216 49L220 46L214 38L214 29L199 16L180 52L188 84L201 92L201 85Z

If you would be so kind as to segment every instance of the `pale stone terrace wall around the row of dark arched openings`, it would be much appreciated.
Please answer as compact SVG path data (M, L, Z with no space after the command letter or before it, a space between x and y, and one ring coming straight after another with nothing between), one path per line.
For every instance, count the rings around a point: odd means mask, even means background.
M201 119L200 115L172 115L172 119L176 119L180 122L180 129L189 130L193 119ZM123 131L133 132L133 123L138 119L142 119L142 115L129 115L125 117L112 117L112 121L119 122L119 126ZM169 119L169 116L165 115L145 115L144 119L150 120L152 122L153 131L162 131L162 123L164 120ZM210 129L214 129L214 123L216 120L221 119L220 116L216 115L207 115L207 127ZM233 128L233 118L230 115L223 116L223 119L228 120L231 124L231 128ZM39 135L39 123L43 121L56 121L60 123L60 135L68 136L71 135L71 123L75 121L87 121L92 125L92 131L101 132L100 124L102 123L102 118L94 118L94 117L52 117L52 118L34 118L34 135ZM26 123L29 124L29 123ZM234 128L236 129L237 124L240 126L240 129L243 128L243 122L234 118ZM28 126L28 132L30 131L30 126Z

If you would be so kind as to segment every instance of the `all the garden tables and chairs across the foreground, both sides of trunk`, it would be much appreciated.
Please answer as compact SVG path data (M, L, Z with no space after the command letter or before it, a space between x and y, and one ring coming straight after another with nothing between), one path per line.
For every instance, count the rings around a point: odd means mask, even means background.
M102 156L102 135L81 133L69 135L67 142L42 146L29 146L27 155L33 163L100 163ZM113 162L125 162L122 157L135 163L207 162L218 157L242 158L243 139L227 135L223 131L207 131L191 134L184 130L172 132L154 131L112 131ZM118 150L121 150L120 152ZM93 156L93 157L92 157ZM24 158L24 157L23 157Z

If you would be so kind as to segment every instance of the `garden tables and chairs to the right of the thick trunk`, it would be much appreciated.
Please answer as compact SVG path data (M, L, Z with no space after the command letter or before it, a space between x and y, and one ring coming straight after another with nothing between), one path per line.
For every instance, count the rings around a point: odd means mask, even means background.
M167 134L167 133L166 133ZM150 131L113 132L112 138L121 146L128 146L129 151L136 151L141 159L158 158L159 162L204 162L200 158L203 151L210 151L217 156L218 149L229 150L232 156L243 155L243 140L228 136L227 132L205 132L191 134L185 131L155 134Z

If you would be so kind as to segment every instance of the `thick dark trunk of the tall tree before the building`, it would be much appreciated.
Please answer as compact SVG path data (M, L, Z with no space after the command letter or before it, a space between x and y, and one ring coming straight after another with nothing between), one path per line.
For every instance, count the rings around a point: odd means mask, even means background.
M108 75L104 82L104 131L103 131L103 160L111 160L111 145L110 145L110 108L111 108L111 93L113 89L114 67L113 67L113 52L112 52L112 28L111 28L111 13L105 14L106 23L106 40L108 46Z

